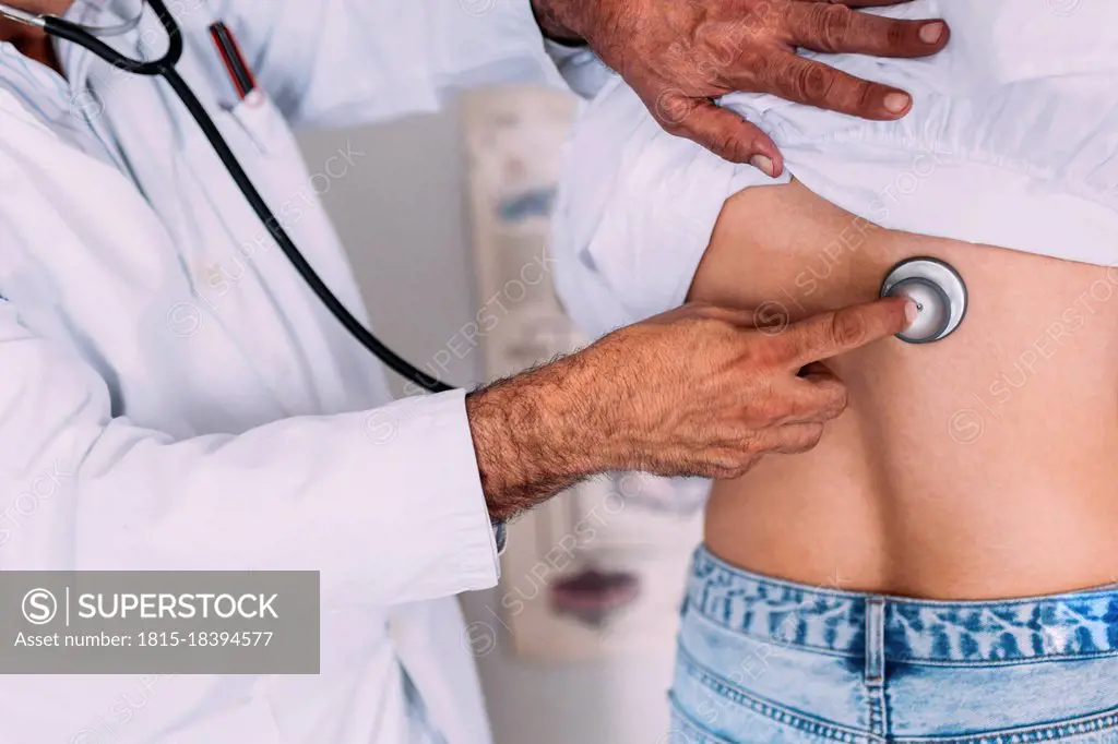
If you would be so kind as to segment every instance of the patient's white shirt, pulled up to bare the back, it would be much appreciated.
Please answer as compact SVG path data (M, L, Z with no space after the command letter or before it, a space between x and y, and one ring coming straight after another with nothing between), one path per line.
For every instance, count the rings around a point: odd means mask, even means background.
M950 45L935 57L822 59L909 90L912 111L901 121L864 122L765 95L722 104L774 137L789 174L864 220L1118 264L1118 3L918 0L873 12L951 26ZM773 181L664 133L613 79L569 145L555 216L567 309L600 335L680 305L726 200L788 178ZM856 229L819 246L816 265L849 250Z

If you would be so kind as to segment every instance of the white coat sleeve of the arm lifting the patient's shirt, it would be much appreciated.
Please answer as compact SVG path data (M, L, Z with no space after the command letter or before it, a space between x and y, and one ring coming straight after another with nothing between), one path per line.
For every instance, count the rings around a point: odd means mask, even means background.
M530 0L211 4L240 38L260 84L296 126L351 126L435 111L448 94L477 85L565 85ZM605 68L590 53L559 47L552 53L577 77L577 89L590 93L600 85Z

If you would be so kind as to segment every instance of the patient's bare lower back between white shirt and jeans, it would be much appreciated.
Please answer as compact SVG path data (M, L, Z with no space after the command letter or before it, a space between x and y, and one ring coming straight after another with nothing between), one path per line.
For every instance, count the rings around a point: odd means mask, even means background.
M728 203L692 298L795 321L872 299L913 256L964 277L963 325L831 360L849 410L814 451L716 486L711 550L930 598L1118 581L1118 268L875 228L794 182Z

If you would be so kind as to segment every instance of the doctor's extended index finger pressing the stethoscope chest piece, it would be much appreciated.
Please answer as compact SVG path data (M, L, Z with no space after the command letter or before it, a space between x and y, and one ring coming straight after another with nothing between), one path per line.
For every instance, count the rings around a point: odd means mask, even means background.
M798 369L898 334L916 314L911 299L885 297L800 321L781 336L788 344L788 364Z

